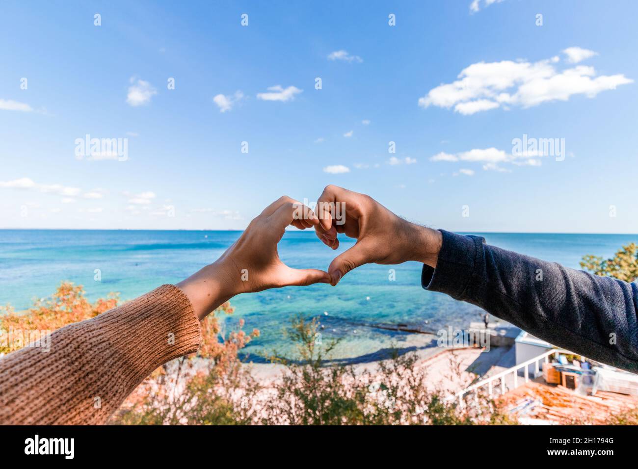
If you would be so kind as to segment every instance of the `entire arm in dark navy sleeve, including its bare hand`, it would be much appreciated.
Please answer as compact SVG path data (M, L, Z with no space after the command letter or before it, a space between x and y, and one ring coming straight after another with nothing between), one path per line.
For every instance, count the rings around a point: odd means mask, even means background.
M345 203L343 224L332 223L330 202ZM330 263L332 285L359 265L416 260L424 264L426 290L480 306L576 354L638 371L637 283L489 246L480 236L415 225L373 198L337 186L327 186L317 205L321 223L315 230L327 246L338 248L338 233L357 239Z

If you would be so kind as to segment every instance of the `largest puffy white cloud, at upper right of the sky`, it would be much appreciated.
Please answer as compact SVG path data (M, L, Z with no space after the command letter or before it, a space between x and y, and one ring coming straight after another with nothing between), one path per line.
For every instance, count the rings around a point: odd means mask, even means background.
M479 62L464 68L456 81L431 89L419 98L419 106L454 107L455 112L470 115L498 107L529 108L567 101L575 94L593 98L601 91L633 82L623 74L597 76L591 66L558 71L553 59Z

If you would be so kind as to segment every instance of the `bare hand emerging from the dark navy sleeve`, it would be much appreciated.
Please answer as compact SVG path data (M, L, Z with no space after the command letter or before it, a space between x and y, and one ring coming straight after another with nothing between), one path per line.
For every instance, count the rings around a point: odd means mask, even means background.
M336 204L345 204L341 220L336 220ZM317 201L320 224L316 235L332 249L339 247L338 233L356 238L352 248L330 263L330 285L359 265L401 264L417 260L436 267L441 249L441 233L399 218L373 198L337 186L327 186ZM344 213L345 212L345 213ZM345 217L343 216L345 214Z

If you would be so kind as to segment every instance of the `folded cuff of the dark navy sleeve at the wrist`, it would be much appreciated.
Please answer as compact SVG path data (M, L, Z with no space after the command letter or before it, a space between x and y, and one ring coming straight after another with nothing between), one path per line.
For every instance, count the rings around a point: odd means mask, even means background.
M480 236L464 236L439 230L443 244L439 251L436 269L423 265L421 286L426 290L441 292L461 299L482 255L485 239Z

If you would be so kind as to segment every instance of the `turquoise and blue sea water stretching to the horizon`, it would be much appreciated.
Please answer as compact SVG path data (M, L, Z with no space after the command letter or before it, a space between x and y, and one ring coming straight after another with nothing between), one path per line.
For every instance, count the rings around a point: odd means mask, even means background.
M0 230L0 304L26 309L33 299L50 296L63 280L84 285L91 300L119 292L133 299L163 283L176 283L214 261L234 242L236 231ZM480 234L489 244L567 267L579 268L582 255L611 256L638 235ZM340 235L341 236L341 235ZM341 237L343 251L353 241ZM286 232L279 256L297 268L327 269L336 255L312 232ZM225 331L237 320L260 338L246 351L254 361L273 350L290 352L285 328L297 314L318 316L322 340L341 339L335 358L375 359L390 346L410 344L413 334L388 331L404 324L422 331L467 327L482 319L480 308L420 287L422 264L365 265L346 275L338 287L286 287L231 300L236 311L223 318ZM101 281L94 280L95 269ZM389 269L396 280L389 280Z

